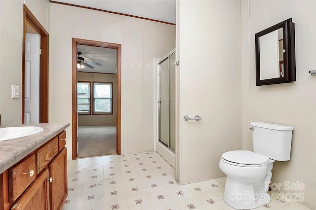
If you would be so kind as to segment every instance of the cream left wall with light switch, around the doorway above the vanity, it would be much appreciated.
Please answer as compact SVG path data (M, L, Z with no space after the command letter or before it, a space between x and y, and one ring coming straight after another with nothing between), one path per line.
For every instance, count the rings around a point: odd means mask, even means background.
M12 85L22 90L23 3L48 31L48 0L0 0L0 113L2 125L21 124L21 98L12 99Z

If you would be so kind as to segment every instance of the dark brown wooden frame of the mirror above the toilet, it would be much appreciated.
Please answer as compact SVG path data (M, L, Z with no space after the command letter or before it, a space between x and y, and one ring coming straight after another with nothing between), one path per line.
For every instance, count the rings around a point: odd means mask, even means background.
M260 36L269 34L281 28L283 28L283 49L285 49L285 52L283 53L284 76L278 77L278 78L260 80L260 41L259 41L259 38ZM296 80L294 32L295 32L294 23L292 22L292 18L289 18L255 35L256 86L287 83L287 82L293 82Z

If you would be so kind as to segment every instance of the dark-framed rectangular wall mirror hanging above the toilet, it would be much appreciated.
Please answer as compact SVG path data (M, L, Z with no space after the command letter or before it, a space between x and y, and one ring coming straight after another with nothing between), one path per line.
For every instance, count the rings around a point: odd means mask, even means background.
M256 86L293 82L295 36L292 18L255 35Z

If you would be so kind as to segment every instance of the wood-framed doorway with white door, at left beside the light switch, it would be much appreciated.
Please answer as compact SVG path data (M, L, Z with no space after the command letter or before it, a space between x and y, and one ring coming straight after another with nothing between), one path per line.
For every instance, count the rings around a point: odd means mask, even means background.
M25 4L23 4L22 78L22 124L47 123L48 33Z

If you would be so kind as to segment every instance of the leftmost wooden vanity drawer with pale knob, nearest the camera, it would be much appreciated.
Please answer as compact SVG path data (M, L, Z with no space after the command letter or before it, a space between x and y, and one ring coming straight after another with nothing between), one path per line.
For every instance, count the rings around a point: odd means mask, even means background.
M9 169L9 199L14 202L34 181L35 154L32 154Z

